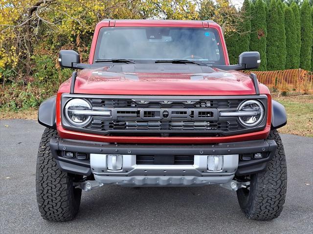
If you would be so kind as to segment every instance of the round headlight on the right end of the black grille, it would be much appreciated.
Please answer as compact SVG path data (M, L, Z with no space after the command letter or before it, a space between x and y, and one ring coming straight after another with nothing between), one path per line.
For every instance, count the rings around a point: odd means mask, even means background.
M243 102L239 106L238 111L252 113L252 115L246 113L247 115L239 117L240 122L247 127L254 127L258 125L264 117L264 109L262 104L255 100L248 100Z

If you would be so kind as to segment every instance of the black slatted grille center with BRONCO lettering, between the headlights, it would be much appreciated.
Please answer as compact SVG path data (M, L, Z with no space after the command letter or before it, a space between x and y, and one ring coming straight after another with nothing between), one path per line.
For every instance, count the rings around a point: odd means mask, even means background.
M220 110L237 110L243 100L89 98L93 109L109 109L112 117L93 117L85 129L115 136L221 136L244 129L237 117L218 117Z

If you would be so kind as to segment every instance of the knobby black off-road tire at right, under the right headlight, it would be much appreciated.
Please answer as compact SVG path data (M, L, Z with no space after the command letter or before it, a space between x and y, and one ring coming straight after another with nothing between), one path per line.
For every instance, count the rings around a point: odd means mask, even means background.
M237 190L241 210L247 218L271 220L283 210L287 192L287 164L282 140L277 130L268 139L276 141L275 155L265 172L250 175L250 187Z

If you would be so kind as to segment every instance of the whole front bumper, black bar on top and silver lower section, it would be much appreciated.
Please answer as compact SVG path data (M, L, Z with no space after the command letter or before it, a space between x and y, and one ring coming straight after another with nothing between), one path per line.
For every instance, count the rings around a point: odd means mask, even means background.
M69 139L51 139L50 148L59 168L65 172L89 176L104 184L124 186L199 186L229 182L234 176L266 170L276 150L274 140L206 145L111 144ZM90 159L64 157L64 152L86 153ZM263 158L241 160L241 155L262 153ZM123 168L110 171L107 155L122 155ZM136 155L194 156L192 165L137 165ZM207 156L223 155L223 168L209 171Z

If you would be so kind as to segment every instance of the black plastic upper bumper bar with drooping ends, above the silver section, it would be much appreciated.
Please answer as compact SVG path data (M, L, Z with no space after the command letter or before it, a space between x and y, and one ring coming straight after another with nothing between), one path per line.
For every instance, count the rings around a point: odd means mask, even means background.
M106 144L101 142L89 142L67 139L50 139L52 156L57 161L72 164L72 168L90 167L89 160L79 160L62 157L63 151L81 152L88 154L120 154L120 155L234 155L248 153L266 153L268 157L249 161L239 161L236 176L249 175L266 170L268 161L276 150L274 140L253 140L244 142L219 143L219 144ZM63 170L59 163L60 169ZM68 165L67 165L67 172ZM81 169L79 171L81 173ZM73 169L71 173L75 174ZM82 174L80 174L82 175ZM89 174L84 174L88 176Z

